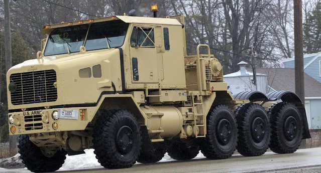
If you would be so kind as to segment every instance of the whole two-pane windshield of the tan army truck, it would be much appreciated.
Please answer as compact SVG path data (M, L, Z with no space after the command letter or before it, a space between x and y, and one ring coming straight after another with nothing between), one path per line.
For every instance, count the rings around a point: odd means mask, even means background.
M86 51L121 47L124 44L129 24L121 20L88 25L57 28L50 35L44 56L79 52L84 45Z

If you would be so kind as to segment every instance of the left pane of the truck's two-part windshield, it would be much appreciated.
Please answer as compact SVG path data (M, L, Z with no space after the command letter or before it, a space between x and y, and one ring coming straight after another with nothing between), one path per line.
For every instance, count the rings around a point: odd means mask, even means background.
M44 56L79 52L86 38L88 25L55 29L49 36Z

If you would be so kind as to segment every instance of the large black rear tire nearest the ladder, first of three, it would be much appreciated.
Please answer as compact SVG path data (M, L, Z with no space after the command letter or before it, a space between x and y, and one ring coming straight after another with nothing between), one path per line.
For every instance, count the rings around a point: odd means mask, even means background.
M212 106L207 114L207 133L200 150L209 159L231 157L237 144L237 125L226 105Z

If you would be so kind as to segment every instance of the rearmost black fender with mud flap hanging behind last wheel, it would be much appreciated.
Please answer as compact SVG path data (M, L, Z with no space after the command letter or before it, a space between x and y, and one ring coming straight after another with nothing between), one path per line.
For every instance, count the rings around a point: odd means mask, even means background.
M269 100L282 100L283 102L294 103L300 112L302 123L303 123L303 137L302 137L302 139L311 138L311 135L309 132L309 127L307 124L305 107L304 107L304 104L302 103L301 99L299 98L299 96L297 96L292 91L274 91L274 92L268 93L267 97L269 98Z

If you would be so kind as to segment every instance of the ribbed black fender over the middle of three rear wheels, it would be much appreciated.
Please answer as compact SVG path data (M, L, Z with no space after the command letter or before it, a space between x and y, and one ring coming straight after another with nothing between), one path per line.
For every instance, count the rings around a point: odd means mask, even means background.
M233 94L234 99L255 101L267 101L268 97L260 91L243 91Z

